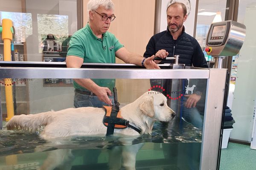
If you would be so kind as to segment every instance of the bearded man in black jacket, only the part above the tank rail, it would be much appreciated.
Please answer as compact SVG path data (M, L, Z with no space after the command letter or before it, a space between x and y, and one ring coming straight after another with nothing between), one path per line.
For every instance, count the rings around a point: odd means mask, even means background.
M208 68L204 53L197 40L185 32L183 22L187 18L186 12L186 6L183 3L172 3L167 8L167 30L151 37L144 57L151 57L153 54L160 58L180 55L179 63L181 64ZM173 63L172 60L164 61L164 63L168 62Z

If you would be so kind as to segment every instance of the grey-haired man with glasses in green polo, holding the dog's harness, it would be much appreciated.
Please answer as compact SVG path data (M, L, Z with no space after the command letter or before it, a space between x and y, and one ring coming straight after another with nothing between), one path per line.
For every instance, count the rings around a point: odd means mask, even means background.
M68 68L80 68L86 63L115 63L116 58L125 63L142 65L146 68L159 68L153 61L154 55L143 58L126 50L115 37L108 32L115 19L111 0L90 0L87 3L89 22L76 31L70 39L66 63ZM102 107L112 105L109 96L115 85L115 79L74 79L74 106Z

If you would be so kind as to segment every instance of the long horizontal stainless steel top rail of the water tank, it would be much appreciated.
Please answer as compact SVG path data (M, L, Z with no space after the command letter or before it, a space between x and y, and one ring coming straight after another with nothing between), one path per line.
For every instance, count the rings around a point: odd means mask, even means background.
M8 78L60 78L60 79L207 79L209 70L186 69L111 69L111 68L0 68L0 76ZM76 74L75 74L76 73Z

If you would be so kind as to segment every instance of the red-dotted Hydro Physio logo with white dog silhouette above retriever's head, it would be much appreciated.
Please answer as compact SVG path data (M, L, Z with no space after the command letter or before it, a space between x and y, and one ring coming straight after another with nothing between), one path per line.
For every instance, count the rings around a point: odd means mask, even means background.
M192 85L192 87L186 86L186 90L182 91L182 90L177 90L177 91L166 91L165 88L163 88L160 85L154 85L152 87L150 87L150 89L148 89L148 94L163 94L165 95L168 99L171 100L179 100L181 99L185 94L189 94L189 91L191 92L191 94L193 94L194 88L196 87L196 85ZM155 91L155 92L153 92ZM163 92L163 93L162 93Z

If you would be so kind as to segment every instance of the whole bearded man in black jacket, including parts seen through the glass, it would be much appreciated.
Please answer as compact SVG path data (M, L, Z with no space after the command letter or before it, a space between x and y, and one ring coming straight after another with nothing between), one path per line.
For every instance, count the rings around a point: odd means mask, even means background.
M151 37L148 45L146 46L144 57L151 57L154 54L156 57L160 58L179 55L180 64L185 64L186 66L193 65L194 67L208 68L204 53L201 50L199 43L194 37L186 34L185 32L183 22L185 22L187 18L186 6L183 3L172 3L170 6L168 6L166 13L168 24L167 30L155 34L153 37ZM155 62L157 64L173 63L174 60ZM191 84L191 82L189 82L189 84ZM205 90L200 89L199 84L203 86L203 88L206 88L206 85L202 85L204 83L201 83L201 81L198 82L197 90L200 91L194 91L193 94L185 95L185 97L187 97L184 102L185 108L192 108L192 110L196 110L195 106L201 99L201 96L205 95ZM189 88L190 86L188 85L187 88ZM196 127L201 128L203 123L202 119L200 119L199 113L197 114L198 116L194 114L195 112L198 112L197 110L192 110L188 111L185 109L183 113L193 112L193 115L185 114L183 116L187 117L187 119L185 118L185 120L188 120L188 122L191 122Z

